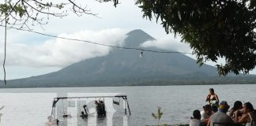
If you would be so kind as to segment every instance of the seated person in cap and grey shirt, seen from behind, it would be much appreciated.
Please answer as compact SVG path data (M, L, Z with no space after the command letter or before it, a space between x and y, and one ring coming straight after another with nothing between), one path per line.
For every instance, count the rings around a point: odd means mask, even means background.
M231 117L229 117L226 113L228 112L229 106L228 102L222 101L220 102L218 112L214 113L208 121L207 126L231 126L234 124L234 121Z

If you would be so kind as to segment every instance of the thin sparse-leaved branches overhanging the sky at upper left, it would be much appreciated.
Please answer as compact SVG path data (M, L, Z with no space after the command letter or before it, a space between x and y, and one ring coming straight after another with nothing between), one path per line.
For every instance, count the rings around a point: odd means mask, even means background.
M96 0L98 2L114 2L114 6L118 4L118 0ZM35 24L47 24L50 16L66 17L70 12L76 13L77 16L91 13L86 5L81 6L82 1L66 0L62 1L46 1L46 0L8 0L6 3L0 3L0 23L1 25L7 18L7 23L11 26L19 26L20 28L28 28ZM47 18L46 18L47 17Z

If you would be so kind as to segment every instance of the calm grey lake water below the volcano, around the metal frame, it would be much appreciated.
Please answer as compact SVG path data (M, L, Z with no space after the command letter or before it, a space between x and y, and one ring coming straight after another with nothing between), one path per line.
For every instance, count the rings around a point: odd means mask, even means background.
M81 109L63 109L65 105L73 106L70 102L58 102L58 120L61 125L153 125L156 120L152 113L156 113L160 106L164 112L160 124L188 124L194 109L202 110L207 104L205 97L209 88L214 88L220 101L225 100L232 107L234 102L251 102L256 107L256 84L236 85L186 85L186 86L140 86L140 87L60 87L60 88L13 88L0 89L0 108L5 106L2 113L1 126L40 126L44 125L51 115L53 98L57 96L81 95L112 95L125 94L128 97L131 115L124 113L123 105L113 105L111 98L105 98L107 107L106 118L96 118L94 100L85 98L91 116L88 120L81 120ZM119 98L115 98L119 102ZM122 99L120 99L122 103ZM76 106L78 102L74 103ZM79 106L82 102L79 102ZM78 107L79 108L79 107ZM113 109L114 108L114 109ZM77 109L77 108L75 108ZM63 112L64 111L64 112ZM72 117L63 119L62 113L70 113ZM1 115L1 114L0 114Z

